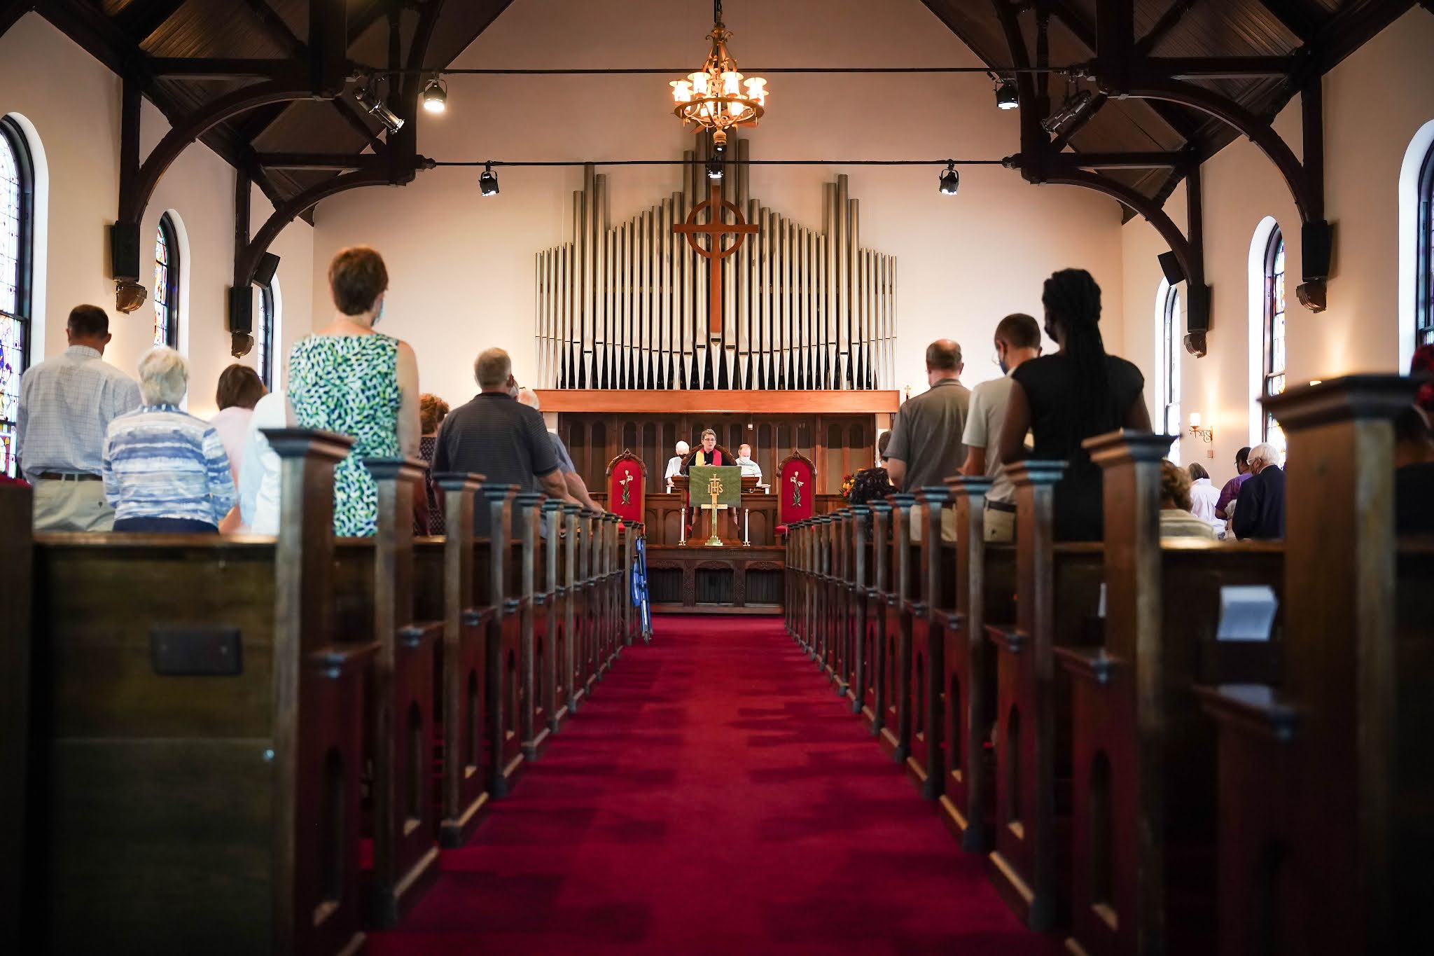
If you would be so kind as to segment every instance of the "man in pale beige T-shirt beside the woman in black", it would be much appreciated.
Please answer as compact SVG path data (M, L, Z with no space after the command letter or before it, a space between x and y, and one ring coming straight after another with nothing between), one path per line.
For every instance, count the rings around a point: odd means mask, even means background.
M967 444L962 474L985 474L995 479L987 493L985 539L1010 543L1015 540L1015 486L1001 473L1001 426L1005 423L1005 403L1011 397L1011 373L1015 367L1041 354L1041 327L1030 315L1007 315L995 327L995 357L1004 376L982 381L971 390L971 413L961 440Z

